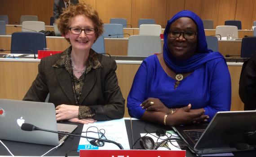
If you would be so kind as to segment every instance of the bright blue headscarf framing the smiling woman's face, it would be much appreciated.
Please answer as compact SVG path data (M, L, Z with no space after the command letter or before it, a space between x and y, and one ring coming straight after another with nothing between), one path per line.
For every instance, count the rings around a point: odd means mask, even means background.
M194 54L194 56L190 57L186 60L177 60L175 59L168 49L168 35L171 24L176 21L178 18L181 17L189 17L191 18L195 24L197 25L198 30L198 42L197 42L197 50ZM212 52L212 50L207 48L204 28L203 28L203 21L201 18L196 15L195 13L189 11L189 10L183 10L170 19L165 27L164 33L163 33L163 59L165 63L177 74L178 73L188 73L191 71L194 71L195 69L202 66L207 61L210 61L212 59L216 58L224 58L219 52Z

